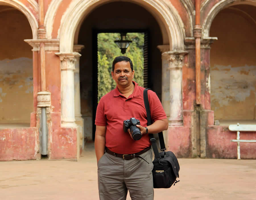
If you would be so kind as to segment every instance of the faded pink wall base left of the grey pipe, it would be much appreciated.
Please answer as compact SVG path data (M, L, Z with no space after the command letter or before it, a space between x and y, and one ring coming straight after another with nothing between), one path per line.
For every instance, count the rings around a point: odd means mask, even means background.
M35 127L0 130L0 161L38 159L36 134Z

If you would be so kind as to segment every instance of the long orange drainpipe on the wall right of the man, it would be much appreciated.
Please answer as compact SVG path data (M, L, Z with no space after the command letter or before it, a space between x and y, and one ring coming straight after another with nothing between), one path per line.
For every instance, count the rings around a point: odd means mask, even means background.
M201 104L201 36L202 29L200 25L200 0L195 0L195 27L193 30L195 38L195 70L196 70L196 103Z

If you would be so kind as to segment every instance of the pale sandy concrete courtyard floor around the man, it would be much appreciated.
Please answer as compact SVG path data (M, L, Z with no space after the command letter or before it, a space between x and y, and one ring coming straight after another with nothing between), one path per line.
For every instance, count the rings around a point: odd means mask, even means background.
M256 160L178 160L180 182L169 189L154 189L154 199L256 199ZM78 162L0 162L0 199L98 200L93 144L86 146Z

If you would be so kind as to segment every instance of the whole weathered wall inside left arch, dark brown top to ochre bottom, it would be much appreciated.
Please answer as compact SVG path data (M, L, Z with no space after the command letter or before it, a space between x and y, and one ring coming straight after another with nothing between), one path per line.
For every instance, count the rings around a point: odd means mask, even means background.
M32 38L27 18L20 11L0 6L0 121L30 122L33 111Z

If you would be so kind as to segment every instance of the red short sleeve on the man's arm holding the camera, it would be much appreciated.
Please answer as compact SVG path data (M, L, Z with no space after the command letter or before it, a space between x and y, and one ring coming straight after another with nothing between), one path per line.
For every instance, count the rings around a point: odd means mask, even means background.
M148 101L151 119L153 122L167 118L164 108L158 96L152 90L148 90Z

